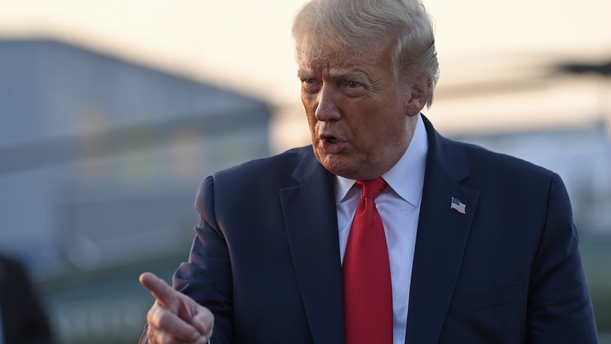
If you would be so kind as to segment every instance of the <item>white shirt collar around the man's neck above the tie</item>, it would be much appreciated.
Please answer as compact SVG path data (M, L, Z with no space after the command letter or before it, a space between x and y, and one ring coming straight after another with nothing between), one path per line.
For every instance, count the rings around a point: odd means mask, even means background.
M414 207L420 205L422 187L424 185L424 170L428 141L426 128L421 115L417 115L414 137L407 150L392 169L382 175L393 190ZM356 180L335 176L335 201L341 202L350 191Z

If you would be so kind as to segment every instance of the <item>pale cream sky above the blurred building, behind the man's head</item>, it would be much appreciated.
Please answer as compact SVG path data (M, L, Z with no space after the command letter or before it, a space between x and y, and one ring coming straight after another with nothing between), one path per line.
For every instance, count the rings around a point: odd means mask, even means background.
M62 38L223 87L278 109L274 150L307 141L290 26L302 0L0 0L0 38ZM609 84L551 73L611 59L608 0L424 0L449 131L559 125L611 110ZM503 86L503 87L499 87ZM293 131L298 133L293 134ZM305 132L304 132L305 131Z

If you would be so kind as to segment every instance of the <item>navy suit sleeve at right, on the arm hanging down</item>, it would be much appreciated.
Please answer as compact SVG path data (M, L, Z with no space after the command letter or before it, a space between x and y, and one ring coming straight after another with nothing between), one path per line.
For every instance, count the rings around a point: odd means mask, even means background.
M598 343L578 239L566 187L554 174L528 293L528 343Z

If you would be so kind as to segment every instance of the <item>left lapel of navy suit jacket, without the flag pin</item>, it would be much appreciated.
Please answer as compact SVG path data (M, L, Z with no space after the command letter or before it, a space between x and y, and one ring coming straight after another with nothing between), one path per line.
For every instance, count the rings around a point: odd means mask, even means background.
M315 343L344 343L342 266L333 175L311 150L280 190L288 242Z

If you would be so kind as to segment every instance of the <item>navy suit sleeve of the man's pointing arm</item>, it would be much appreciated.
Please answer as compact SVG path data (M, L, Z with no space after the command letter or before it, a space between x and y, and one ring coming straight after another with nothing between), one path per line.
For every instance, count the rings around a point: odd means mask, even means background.
M195 199L199 226L189 260L174 273L173 287L214 314L211 343L232 343L233 297L230 254L216 222L213 178L202 182Z

